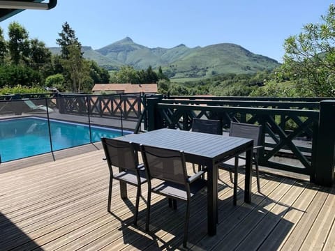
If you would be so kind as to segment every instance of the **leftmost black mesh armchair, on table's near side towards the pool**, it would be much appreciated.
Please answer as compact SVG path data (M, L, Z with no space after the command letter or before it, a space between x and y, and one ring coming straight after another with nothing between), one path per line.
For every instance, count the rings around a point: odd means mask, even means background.
M108 192L107 211L110 211L112 202L113 179L124 183L135 185L137 187L134 224L137 225L138 206L141 196L141 185L147 182L144 173L144 165L138 164L137 154L129 142L121 142L117 139L101 138L103 150L110 169L110 189ZM114 173L112 167L118 167L119 172Z

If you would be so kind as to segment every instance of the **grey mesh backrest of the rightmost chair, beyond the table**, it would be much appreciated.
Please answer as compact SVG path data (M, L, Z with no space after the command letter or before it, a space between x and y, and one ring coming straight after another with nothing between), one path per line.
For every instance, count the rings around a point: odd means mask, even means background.
M236 123L236 122L230 123L229 136L253 139L253 146L260 145L261 135L262 135L262 126L248 123Z

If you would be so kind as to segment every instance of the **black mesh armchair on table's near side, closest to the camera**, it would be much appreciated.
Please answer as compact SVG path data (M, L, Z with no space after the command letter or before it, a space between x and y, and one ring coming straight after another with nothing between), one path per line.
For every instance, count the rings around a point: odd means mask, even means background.
M151 192L163 195L169 199L186 201L186 220L183 241L183 245L186 247L190 201L196 192L207 185L207 181L200 178L205 170L189 177L186 171L184 152L182 151L142 145L141 152L148 181L147 222L145 229L149 231ZM155 187L151 187L151 178L158 178L163 182Z

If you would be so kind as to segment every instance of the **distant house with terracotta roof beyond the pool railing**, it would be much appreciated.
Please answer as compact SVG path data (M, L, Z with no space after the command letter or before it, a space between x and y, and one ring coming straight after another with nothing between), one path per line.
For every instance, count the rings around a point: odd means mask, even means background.
M157 84L95 84L97 93L157 93Z

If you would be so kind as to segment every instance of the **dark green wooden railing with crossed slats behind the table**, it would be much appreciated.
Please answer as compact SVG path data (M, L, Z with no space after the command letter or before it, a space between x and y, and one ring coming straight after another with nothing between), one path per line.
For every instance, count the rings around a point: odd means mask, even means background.
M330 185L334 181L334 100L216 100L186 97L149 98L148 128L191 130L193 118L219 119L228 132L230 121L263 125L260 165L310 176ZM332 115L333 112L333 115ZM328 126L328 128L327 128ZM328 149L325 149L327 146ZM330 148L330 149L329 149ZM332 151L333 150L333 151ZM322 163L322 164L321 164Z

